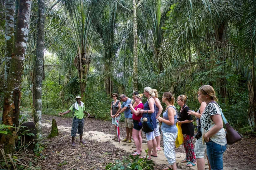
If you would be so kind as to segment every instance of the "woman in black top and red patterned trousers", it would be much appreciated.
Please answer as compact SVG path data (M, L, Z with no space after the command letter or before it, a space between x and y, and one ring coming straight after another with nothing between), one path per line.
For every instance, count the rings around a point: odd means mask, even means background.
M181 109L178 113L178 125L181 124L181 130L184 138L183 146L186 151L186 158L181 162L188 162L186 164L187 167L192 167L196 165L196 156L194 152L194 145L192 142L192 138L194 136L194 125L192 116L188 115L189 107L186 105L187 96L180 95L178 96L177 103L180 105Z

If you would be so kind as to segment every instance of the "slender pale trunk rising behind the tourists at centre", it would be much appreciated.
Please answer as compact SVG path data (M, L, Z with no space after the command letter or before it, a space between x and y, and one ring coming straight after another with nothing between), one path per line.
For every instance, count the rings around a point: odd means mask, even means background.
M142 0L141 0L142 1ZM132 14L133 14L133 91L138 91L138 34L137 34L137 5L136 1L132 0Z

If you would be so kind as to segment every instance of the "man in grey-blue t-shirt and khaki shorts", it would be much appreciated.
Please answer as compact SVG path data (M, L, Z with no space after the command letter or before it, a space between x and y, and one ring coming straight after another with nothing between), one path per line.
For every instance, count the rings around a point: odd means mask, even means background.
M131 136L132 136L132 113L129 107L131 103L131 99L126 97L124 94L120 95L120 99L122 100L123 104L121 105L121 110L118 110L115 115L112 117L118 117L121 113L124 112L125 114L125 127L126 127L126 137L122 140L122 142L131 143Z

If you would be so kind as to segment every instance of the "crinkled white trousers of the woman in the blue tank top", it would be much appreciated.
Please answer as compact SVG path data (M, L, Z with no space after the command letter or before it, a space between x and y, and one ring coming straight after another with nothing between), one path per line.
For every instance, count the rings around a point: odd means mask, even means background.
M167 158L169 165L173 165L176 162L175 155L175 140L177 138L178 132L176 133L167 133L162 130L163 133L163 142L164 142L164 155Z

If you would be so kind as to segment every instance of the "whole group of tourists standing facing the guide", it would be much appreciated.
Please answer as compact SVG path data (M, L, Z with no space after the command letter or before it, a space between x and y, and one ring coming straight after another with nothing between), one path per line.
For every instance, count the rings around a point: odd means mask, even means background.
M143 105L142 97L147 98ZM222 155L227 147L226 133L223 128L221 110L216 103L217 98L214 89L210 85L203 85L198 89L198 101L201 104L198 111L190 110L186 105L187 96L179 95L177 104L180 106L180 111L174 106L174 96L170 92L165 92L162 95L162 102L166 108L162 114L163 107L158 99L156 89L150 87L144 88L144 93L138 94L134 92L132 99L124 94L120 95L113 93L113 101L111 103L110 115L112 124L116 126L116 119L120 119L120 114L124 112L126 137L122 142L131 143L131 137L134 139L133 148L136 148L132 156L140 156L142 152L142 118L147 118L147 121L154 127L154 131L146 133L148 145L148 157L157 157L157 151L161 150L160 140L161 133L159 132L159 124L162 123L161 131L163 135L164 153L168 160L169 166L164 168L176 170L175 156L175 141L178 135L177 126L181 126L183 134L183 146L186 152L186 158L181 162L186 162L187 167L197 165L198 170L204 170L204 153L206 153L209 169L223 169ZM162 114L162 117L160 115ZM192 124L192 115L197 120L197 134L194 135L194 125ZM177 123L177 124L176 124ZM195 147L192 138L196 138ZM117 135L113 140L118 141Z

